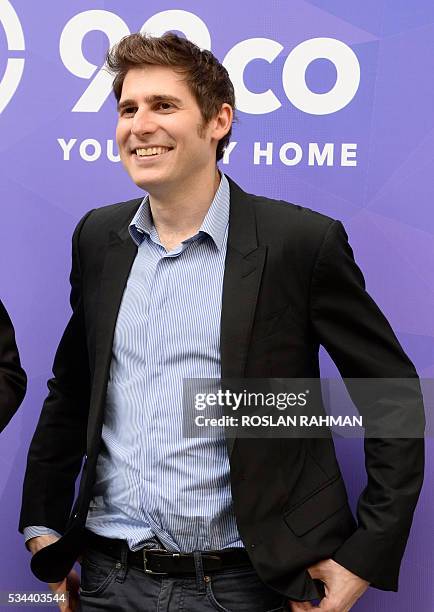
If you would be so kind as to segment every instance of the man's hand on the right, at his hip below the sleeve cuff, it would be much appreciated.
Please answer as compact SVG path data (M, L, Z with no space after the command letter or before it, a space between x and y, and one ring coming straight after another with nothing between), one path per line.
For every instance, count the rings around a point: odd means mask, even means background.
M291 612L304 610L320 610L321 612L348 612L369 586L333 559L324 559L308 568L312 578L324 583L325 597L319 606L313 606L308 601L290 601Z

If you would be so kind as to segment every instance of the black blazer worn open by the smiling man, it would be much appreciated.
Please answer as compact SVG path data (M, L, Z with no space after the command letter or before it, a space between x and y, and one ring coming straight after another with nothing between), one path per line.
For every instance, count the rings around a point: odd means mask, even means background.
M229 183L222 377L315 378L322 344L343 377L417 378L365 291L342 224ZM21 531L45 525L64 534L32 559L33 572L47 582L65 577L82 545L114 328L137 251L128 224L140 202L90 211L73 236L73 314L30 446L20 519ZM412 404L423 419L419 393ZM367 438L365 451L368 485L356 524L331 439L228 438L239 531L272 588L293 599L315 598L306 568L332 557L378 588L397 589L422 485L424 443Z

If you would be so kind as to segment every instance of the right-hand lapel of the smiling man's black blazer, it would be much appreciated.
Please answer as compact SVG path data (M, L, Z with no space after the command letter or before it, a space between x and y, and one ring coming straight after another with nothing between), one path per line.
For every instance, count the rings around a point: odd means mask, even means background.
M229 235L223 280L220 355L225 379L244 378L267 247L258 245L251 200L229 177ZM235 439L227 438L229 455Z

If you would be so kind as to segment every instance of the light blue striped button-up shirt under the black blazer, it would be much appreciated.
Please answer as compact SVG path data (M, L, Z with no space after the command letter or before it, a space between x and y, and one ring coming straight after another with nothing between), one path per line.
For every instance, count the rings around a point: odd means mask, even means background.
M243 546L223 429L213 438L182 434L183 379L221 374L229 200L221 173L199 231L169 252L148 197L130 224L138 252L116 323L86 527L132 550L155 536L176 552Z

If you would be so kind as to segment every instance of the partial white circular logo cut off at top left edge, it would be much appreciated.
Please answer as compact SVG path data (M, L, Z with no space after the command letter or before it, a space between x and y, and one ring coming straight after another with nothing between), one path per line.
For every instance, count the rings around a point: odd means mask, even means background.
M6 35L9 51L24 51L24 34L20 20L9 0L0 0L0 23ZM0 113L12 99L20 84L24 70L24 58L9 57L0 81Z

